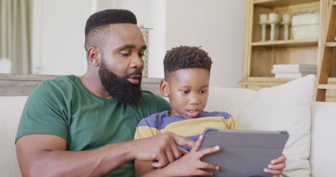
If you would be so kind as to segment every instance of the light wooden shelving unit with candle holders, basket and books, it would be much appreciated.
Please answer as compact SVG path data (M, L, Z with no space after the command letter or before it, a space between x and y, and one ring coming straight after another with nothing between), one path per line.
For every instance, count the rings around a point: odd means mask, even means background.
M284 84L294 78L274 78L273 64L318 64L325 33L326 17L331 0L245 0L245 27L243 44L243 73L239 82L242 88L259 90ZM335 1L332 4L336 4ZM258 24L262 13L276 12L293 15L295 12L320 11L320 35L314 39L294 40L290 26L289 40L284 40L284 27L279 28L279 40L260 41L261 26ZM270 29L266 28L266 40ZM324 43L326 47L336 47L336 42ZM335 50L336 51L336 50ZM336 52L335 56L336 56ZM336 78L336 57L331 62L329 77ZM336 84L331 79L328 84ZM329 85L320 85L327 87ZM327 101L336 101L336 90L327 90Z

